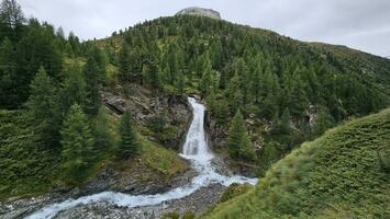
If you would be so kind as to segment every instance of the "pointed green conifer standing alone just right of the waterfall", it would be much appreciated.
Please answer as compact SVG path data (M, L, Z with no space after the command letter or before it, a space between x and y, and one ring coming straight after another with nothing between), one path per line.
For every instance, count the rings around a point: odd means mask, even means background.
M246 131L245 122L239 111L233 117L229 129L227 150L232 158L255 160L256 153Z

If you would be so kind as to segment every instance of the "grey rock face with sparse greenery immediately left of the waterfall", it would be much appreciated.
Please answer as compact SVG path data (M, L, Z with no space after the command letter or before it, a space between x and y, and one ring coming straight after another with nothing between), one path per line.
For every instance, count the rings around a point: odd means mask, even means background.
M147 132L142 134L149 140L180 150L179 146L192 119L187 99L153 94L137 84L103 90L101 96L105 106L118 116L130 108L138 125L147 129ZM145 128L141 130L146 131Z

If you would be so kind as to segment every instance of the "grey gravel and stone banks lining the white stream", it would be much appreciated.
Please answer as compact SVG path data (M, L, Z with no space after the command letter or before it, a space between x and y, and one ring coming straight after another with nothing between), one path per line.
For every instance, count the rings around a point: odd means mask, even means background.
M220 173L227 174L229 171L226 165L223 163L221 159L215 159L213 161L214 166L218 166ZM174 177L169 185L161 187L161 185L133 185L136 189L130 192L129 194L138 195L138 194L155 194L163 193L168 189L172 189L176 187L180 187L182 185L188 184L192 177L194 177L197 173L193 170L189 170L188 172ZM62 203L68 198L77 198L81 195L88 195L97 193L97 188L103 189L108 186L108 184L101 183L100 187L97 186L92 189L92 185L97 185L93 183L83 188L74 188L69 192L57 192L51 193L33 198L23 198L15 199L11 198L5 201L0 203L0 216L2 219L19 219L29 216L30 214L43 208L46 205L53 203ZM181 199L172 199L167 200L158 205L154 206L144 206L144 207L119 207L112 205L108 201L97 201L88 205L79 205L74 208L70 208L66 211L59 212L55 218L134 218L134 219L154 219L160 218L164 214L167 212L178 212L183 214L189 210L196 214L202 212L207 207L216 203L216 200L222 195L225 186L221 184L210 184L205 187L201 187L197 192L191 195L181 198ZM125 192L125 191L118 191Z

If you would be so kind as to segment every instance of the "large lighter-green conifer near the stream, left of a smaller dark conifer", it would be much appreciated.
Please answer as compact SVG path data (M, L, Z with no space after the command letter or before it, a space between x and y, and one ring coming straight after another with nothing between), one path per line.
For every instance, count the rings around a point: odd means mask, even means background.
M94 143L87 115L82 113L80 105L75 104L70 107L60 134L65 180L78 184L87 174Z

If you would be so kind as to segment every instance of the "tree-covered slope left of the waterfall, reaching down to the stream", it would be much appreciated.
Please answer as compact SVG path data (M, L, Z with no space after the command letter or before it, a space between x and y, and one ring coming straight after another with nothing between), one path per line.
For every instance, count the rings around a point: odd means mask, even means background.
M105 164L160 182L186 170L174 151L144 139L140 124L118 128L108 115L100 89L116 71L108 61L92 42L26 21L15 0L1 1L0 198L85 185Z

